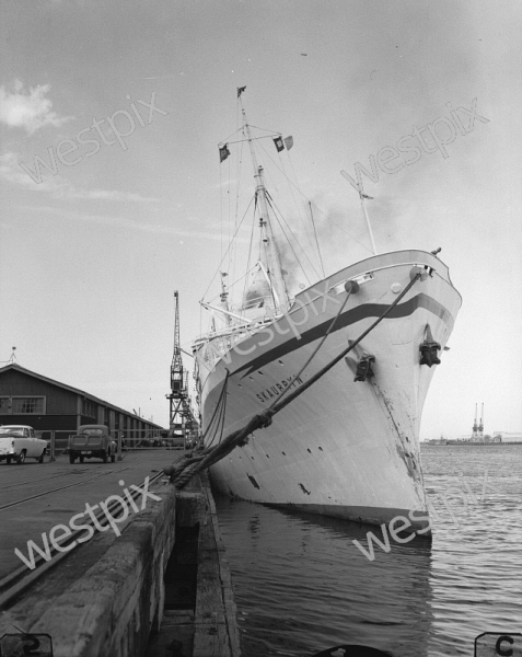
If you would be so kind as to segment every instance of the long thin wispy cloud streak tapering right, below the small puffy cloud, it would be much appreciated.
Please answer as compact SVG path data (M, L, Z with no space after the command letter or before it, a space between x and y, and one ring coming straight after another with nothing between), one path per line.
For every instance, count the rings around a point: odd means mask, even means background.
M50 195L56 199L83 198L85 200L127 200L134 203L158 203L158 198L141 196L116 189L83 189L74 187L72 183L59 174L43 176L42 182L35 185L33 180L20 168L19 158L13 152L0 155L0 178L8 183Z

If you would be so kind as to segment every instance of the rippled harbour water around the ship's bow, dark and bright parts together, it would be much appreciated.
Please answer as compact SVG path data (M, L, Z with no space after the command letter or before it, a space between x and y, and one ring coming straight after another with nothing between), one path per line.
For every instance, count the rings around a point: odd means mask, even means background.
M245 657L472 656L483 632L522 632L522 446L421 453L433 540L391 539L373 561L352 541L379 529L217 498Z

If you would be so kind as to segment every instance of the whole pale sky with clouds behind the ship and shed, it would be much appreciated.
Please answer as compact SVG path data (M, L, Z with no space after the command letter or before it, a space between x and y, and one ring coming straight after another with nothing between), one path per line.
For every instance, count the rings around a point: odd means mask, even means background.
M469 434L476 403L486 433L522 430L521 11L0 0L0 361L15 346L22 367L167 426L173 291L189 350L243 216L247 191L229 185L240 147L220 164L218 143L246 85L250 123L293 137L291 200L313 201L329 273L371 255L340 171L371 171L381 149L437 126L445 146L427 139L432 152L363 177L378 250L440 246L463 298L421 439ZM242 224L237 249L248 235Z

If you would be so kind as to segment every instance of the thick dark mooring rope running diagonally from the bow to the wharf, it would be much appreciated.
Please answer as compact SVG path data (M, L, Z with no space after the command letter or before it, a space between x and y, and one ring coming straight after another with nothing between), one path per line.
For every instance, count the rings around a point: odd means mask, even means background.
M404 290L398 295L393 303L391 303L386 310L373 322L373 324L367 328L356 341L350 341L348 347L343 349L340 354L338 354L335 358L333 358L325 367L318 370L313 377L311 377L308 381L302 383L299 388L293 390L291 393L287 395L285 400L276 400L276 403L272 404L269 408L266 408L262 413L258 413L251 417L247 424L236 431L232 431L229 434L219 445L214 447L207 448L197 456L192 456L188 459L185 459L182 463L177 463L176 465L170 465L164 469L164 473L170 476L170 482L176 486L176 488L183 488L185 484L190 481L190 479L197 474L198 472L213 465L224 457L227 457L233 449L236 447L242 447L248 442L248 436L256 431L257 429L263 429L271 425L272 417L279 411L282 411L288 404L293 402L298 396L303 394L311 385L313 385L316 381L318 381L326 372L328 372L339 360L341 360L349 351L351 351L378 324L386 318L392 310L397 306L397 303L408 293L411 287L417 283L417 280L421 277L422 272L415 267L411 270L411 280L404 288ZM350 290L351 291L351 290ZM350 292L348 292L349 296ZM339 313L338 313L339 314ZM337 319L337 318L336 318ZM326 336L325 336L326 337ZM321 345L324 343L322 341ZM320 346L321 346L320 345ZM315 355L316 351L312 355ZM310 361L310 359L309 359Z

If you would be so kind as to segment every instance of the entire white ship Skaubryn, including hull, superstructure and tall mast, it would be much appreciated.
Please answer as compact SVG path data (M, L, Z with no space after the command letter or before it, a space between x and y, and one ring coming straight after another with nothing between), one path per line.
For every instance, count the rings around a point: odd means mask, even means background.
M369 525L402 516L405 531L429 535L420 419L461 296L438 251L420 249L373 253L290 295L243 91L259 253L239 302L224 272L218 300L201 301L211 324L193 354L205 446L292 400L210 468L214 489Z

